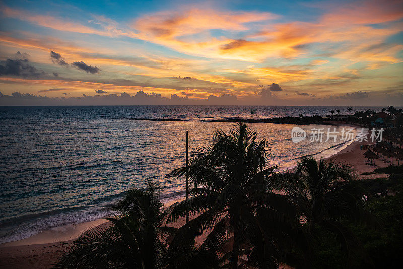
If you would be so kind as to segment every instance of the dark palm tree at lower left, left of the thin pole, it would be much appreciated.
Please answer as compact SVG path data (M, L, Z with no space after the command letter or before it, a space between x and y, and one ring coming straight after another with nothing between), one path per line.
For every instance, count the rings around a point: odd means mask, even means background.
M114 208L115 217L107 218L112 226L86 231L55 268L191 268L193 263L199 268L214 267L215 257L203 250L168 247L168 241L179 241L178 229L163 226L172 208L164 210L159 197L152 183L146 190L128 191Z

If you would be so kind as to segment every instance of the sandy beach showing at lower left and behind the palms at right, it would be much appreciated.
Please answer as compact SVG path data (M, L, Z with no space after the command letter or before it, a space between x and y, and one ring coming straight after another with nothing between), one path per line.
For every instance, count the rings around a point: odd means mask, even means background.
M361 175L375 169L365 164L366 159L363 156L365 151L360 150L360 145L364 144L370 143L353 142L329 158L353 165L357 179L386 177L386 174ZM388 166L382 159L376 160L375 164L378 167ZM75 238L98 225L108 225L108 223L104 219L99 219L70 224L43 231L26 239L3 243L0 245L0 268L51 268L52 264L57 261L57 257L69 247ZM180 227L181 225L183 222L175 223L174 226Z

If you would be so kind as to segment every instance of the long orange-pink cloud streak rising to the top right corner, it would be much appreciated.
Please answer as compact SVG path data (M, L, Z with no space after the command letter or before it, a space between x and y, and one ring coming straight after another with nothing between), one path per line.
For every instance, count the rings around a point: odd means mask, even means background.
M368 4L368 5L367 5ZM368 2L349 4L323 15L317 23L291 22L275 24L249 39L262 41L233 40L221 46L221 54L250 59L266 57L296 57L305 54L306 45L312 43L340 43L340 50L354 50L357 45L376 44L401 31L401 23L374 28L368 24L387 23L403 18L399 1L385 3ZM393 51L396 52L396 51ZM349 53L350 56L353 53ZM398 60L389 54L382 56L387 61ZM353 56L354 58L354 56ZM366 58L369 58L368 56Z

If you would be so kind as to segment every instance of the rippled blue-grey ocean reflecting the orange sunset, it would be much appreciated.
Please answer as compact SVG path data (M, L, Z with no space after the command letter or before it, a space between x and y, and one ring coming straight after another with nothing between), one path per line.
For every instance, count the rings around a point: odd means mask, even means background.
M184 196L184 179L166 174L185 164L189 151L208 143L214 130L235 123L212 119L272 118L329 114L311 106L43 106L0 107L0 243L45 229L104 217L130 188L148 180L164 191L165 202ZM347 114L347 108L340 108ZM356 110L380 108L358 107ZM253 115L251 115L253 110ZM181 119L182 121L131 120ZM345 142L299 143L294 125L251 123L258 137L272 141L271 165L294 166L309 154L328 157ZM312 128L349 126L300 126Z

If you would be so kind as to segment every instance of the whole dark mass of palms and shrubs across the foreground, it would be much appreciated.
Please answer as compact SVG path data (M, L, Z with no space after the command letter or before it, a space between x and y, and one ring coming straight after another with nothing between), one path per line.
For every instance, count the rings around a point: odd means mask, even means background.
M385 169L388 178L354 180L348 165L304 157L292 171L277 172L269 152L270 142L257 141L244 123L216 131L190 159L187 200L164 208L151 183L127 192L111 224L84 233L55 267L361 268L395 262L403 250L399 168ZM185 175L180 167L168 176ZM390 190L397 195L387 196Z

